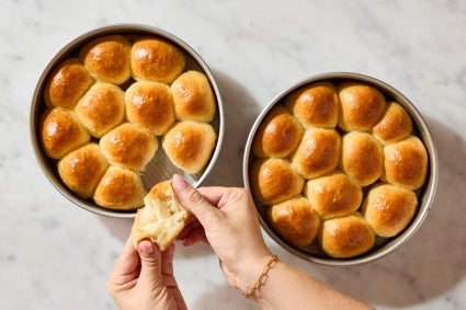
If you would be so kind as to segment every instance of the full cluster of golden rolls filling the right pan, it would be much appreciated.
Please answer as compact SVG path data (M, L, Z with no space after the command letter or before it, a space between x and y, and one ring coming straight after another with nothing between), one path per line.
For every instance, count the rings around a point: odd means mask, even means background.
M294 91L264 117L251 151L251 192L269 226L337 259L410 223L429 161L408 112L357 81Z

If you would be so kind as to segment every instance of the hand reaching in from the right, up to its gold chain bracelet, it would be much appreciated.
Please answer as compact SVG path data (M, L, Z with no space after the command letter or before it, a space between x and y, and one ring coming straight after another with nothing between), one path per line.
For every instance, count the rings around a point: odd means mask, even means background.
M173 176L172 186L181 205L198 220L180 234L183 244L209 243L228 283L249 291L272 256L262 238L250 192L232 187L196 191L179 175Z

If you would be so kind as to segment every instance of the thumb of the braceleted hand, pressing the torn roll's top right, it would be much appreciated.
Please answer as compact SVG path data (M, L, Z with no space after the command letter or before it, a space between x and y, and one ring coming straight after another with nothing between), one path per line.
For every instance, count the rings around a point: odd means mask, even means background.
M191 184L178 174L173 175L172 185L180 204L190 210L202 226L218 213Z

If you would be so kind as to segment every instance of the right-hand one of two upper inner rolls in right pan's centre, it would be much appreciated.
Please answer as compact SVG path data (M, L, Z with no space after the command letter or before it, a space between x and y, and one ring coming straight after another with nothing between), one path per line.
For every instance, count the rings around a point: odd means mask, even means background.
M382 145L370 134L352 131L341 139L340 170L366 186L384 172Z

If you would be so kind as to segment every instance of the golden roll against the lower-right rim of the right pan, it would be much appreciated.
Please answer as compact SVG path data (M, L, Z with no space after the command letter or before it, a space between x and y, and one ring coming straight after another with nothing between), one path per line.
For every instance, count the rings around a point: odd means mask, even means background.
M362 205L362 214L374 232L394 237L411 221L418 198L412 191L379 184L371 188Z

